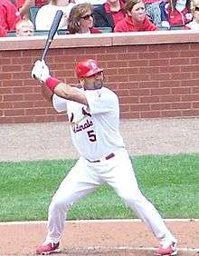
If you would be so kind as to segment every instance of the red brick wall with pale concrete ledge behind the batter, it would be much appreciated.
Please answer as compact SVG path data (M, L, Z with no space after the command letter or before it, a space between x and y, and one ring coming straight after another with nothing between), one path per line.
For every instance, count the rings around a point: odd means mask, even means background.
M83 58L97 59L107 86L119 96L122 118L199 116L199 34L168 33L61 36L47 63L52 75L75 84L74 65ZM30 76L44 39L6 40L0 41L0 123L65 120L43 100Z

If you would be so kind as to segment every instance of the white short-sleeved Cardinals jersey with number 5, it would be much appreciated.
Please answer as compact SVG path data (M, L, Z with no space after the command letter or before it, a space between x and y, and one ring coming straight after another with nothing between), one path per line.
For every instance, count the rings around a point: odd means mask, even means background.
M52 104L57 112L67 112L72 142L81 156L96 161L125 146L118 131L118 96L105 87L82 92L89 107L56 94L53 94Z

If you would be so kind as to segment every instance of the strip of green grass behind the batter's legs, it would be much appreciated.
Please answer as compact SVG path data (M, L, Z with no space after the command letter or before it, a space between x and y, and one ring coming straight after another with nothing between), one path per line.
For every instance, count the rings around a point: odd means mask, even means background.
M0 162L0 222L46 220L52 195L75 162ZM139 156L133 165L141 191L164 218L199 218L199 154ZM107 185L68 214L72 220L135 217Z

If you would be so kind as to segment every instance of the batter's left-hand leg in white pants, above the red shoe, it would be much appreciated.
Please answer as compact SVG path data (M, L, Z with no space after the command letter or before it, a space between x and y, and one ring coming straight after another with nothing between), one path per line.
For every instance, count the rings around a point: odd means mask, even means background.
M92 192L100 184L100 181L89 171L87 165L80 159L54 194L49 207L46 242L60 241L67 211L71 205Z

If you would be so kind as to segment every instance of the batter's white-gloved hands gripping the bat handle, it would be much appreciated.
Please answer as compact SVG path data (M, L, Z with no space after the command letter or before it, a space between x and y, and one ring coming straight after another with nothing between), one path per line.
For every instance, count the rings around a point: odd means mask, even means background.
M46 79L50 77L50 72L47 64L45 64L44 61L40 61L40 60L37 60L33 64L33 69L31 74L32 74L32 77L38 80L40 83L45 82Z

